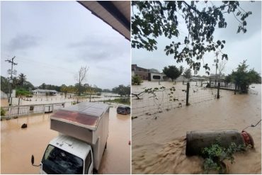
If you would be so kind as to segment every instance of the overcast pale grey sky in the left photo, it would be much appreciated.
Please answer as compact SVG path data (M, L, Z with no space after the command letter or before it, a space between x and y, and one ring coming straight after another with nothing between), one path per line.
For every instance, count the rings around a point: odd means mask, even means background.
M130 42L76 1L1 1L1 76L13 56L34 86L74 85L81 66L91 85L130 84Z

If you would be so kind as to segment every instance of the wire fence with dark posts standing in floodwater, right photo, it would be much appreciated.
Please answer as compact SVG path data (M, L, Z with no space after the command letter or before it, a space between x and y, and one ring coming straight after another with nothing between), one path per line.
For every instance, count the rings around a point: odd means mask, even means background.
M181 108L194 103L210 101L220 98L222 91L217 88L207 88L207 84L190 81L188 83L173 84L169 88L152 88L144 91L132 92L132 117L153 115L172 108ZM224 93L224 91L223 91Z

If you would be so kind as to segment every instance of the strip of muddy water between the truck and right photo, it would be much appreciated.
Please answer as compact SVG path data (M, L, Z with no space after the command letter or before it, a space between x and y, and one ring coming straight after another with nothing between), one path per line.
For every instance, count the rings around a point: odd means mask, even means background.
M130 174L130 115L116 113L110 108L109 136L99 174Z

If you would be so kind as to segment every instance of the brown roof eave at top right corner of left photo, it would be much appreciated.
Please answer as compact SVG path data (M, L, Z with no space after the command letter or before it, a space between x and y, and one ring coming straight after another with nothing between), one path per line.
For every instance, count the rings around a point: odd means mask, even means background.
M130 1L78 1L130 40Z

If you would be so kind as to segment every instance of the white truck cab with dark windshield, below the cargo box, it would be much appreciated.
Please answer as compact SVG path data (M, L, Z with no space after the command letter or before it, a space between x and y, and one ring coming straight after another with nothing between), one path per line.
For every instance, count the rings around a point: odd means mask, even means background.
M55 137L45 149L40 174L93 174L91 146L67 135Z

